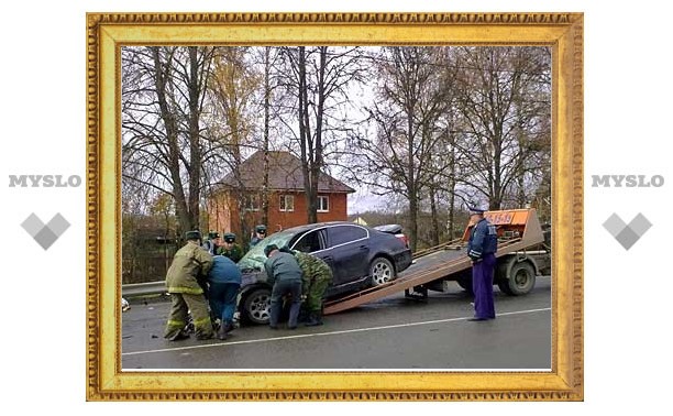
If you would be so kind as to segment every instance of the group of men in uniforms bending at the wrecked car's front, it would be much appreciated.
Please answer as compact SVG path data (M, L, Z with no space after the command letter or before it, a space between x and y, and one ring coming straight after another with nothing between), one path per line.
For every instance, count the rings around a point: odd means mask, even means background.
M236 262L243 252L233 233L223 242L216 232L201 244L199 231L185 234L187 243L179 249L166 274L166 287L172 299L164 338L170 341L189 338L187 320L191 314L195 337L225 340L233 330L233 316L241 287L241 271ZM266 237L266 227L257 226L251 247ZM269 244L264 249L267 282L273 286L269 327L278 328L284 299L289 296L288 329L297 328L304 303L308 314L306 326L322 325L322 296L332 281L330 266L311 254Z

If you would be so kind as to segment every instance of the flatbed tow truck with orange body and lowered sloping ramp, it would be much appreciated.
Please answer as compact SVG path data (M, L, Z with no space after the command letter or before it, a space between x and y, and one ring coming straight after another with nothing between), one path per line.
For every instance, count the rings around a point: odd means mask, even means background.
M533 208L486 211L484 214L498 232L497 263L494 284L508 295L525 295L532 291L536 275L551 270L551 244ZM428 289L445 292L446 282L456 281L472 292L472 261L465 254L465 243L474 225L463 237L415 255L415 264L400 276L383 285L367 288L326 303L324 315L335 314L405 291L409 298L424 299ZM430 254L435 255L430 256Z

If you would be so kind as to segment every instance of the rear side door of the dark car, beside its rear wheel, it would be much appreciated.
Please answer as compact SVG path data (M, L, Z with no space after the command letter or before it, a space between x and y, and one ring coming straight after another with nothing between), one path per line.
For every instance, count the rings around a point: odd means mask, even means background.
M339 225L327 229L328 249L334 262L334 283L355 282L368 274L368 231L360 226Z

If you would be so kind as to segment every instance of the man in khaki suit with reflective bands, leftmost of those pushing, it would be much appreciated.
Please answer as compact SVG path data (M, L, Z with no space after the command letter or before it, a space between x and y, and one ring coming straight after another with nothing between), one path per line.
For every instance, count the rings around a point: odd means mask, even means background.
M175 253L166 274L166 287L170 294L170 315L164 330L164 338L177 341L189 338L184 330L187 314L191 311L197 340L213 337L208 302L199 280L205 280L212 267L212 255L200 245L201 233L188 231L187 244Z

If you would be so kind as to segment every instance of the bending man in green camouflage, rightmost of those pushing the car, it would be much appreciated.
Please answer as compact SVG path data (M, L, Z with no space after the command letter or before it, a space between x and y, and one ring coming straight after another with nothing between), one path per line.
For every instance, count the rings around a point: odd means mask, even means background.
M291 253L301 269L301 297L306 299L307 327L322 325L322 297L332 283L332 269L320 258L287 248L280 251Z

